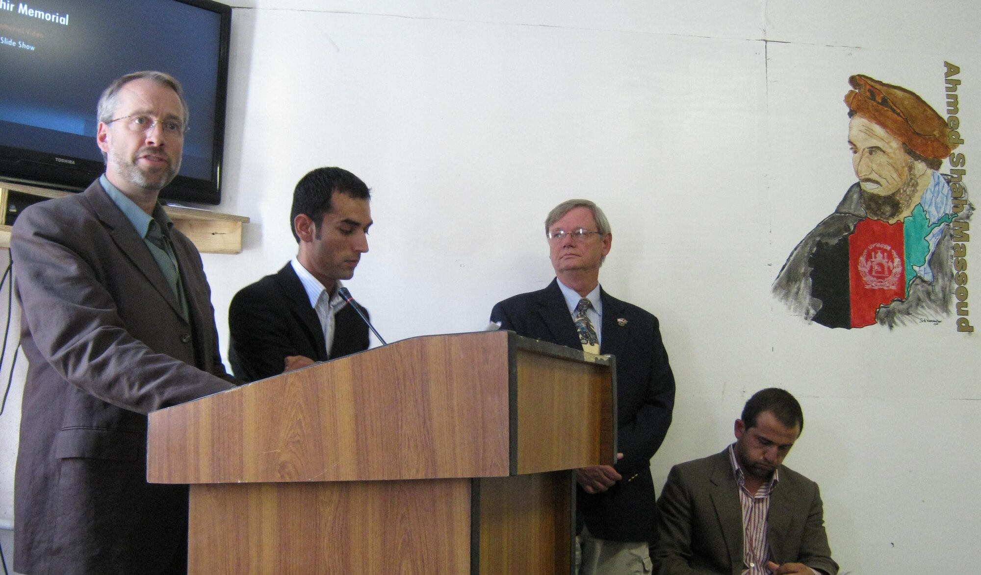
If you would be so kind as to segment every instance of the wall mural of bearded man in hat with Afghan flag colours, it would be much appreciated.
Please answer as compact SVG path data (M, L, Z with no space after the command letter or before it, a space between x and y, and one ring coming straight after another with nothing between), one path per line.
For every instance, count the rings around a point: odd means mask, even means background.
M953 223L971 213L960 176L938 171L956 142L913 92L866 75L849 83L858 181L794 249L773 294L827 327L938 320L954 300Z

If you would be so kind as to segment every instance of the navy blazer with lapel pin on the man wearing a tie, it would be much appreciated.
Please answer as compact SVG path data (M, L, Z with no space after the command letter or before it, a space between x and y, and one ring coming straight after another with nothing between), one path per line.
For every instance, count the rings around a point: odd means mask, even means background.
M653 541L657 508L650 457L671 425L674 375L657 318L601 289L599 297L603 306L599 351L616 356L618 443L624 455L616 469L623 480L595 495L578 488L578 508L594 537ZM583 349L557 279L543 290L498 303L490 311L490 320L518 335Z

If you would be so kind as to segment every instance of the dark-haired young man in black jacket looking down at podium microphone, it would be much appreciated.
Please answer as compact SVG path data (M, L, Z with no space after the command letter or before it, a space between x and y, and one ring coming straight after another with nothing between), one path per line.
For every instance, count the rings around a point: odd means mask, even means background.
M289 216L296 257L232 298L236 377L255 381L368 349L368 326L338 290L368 251L370 199L346 169L317 168L296 184Z

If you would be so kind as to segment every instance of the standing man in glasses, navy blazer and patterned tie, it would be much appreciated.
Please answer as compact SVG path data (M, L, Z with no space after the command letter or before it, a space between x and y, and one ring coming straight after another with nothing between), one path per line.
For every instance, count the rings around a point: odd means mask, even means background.
M577 572L649 573L647 547L657 536L650 458L671 424L675 383L657 318L599 286L613 235L589 200L569 200L545 218L555 279L537 292L504 300L490 321L527 337L616 356L619 462L576 474ZM599 329L596 329L599 326Z

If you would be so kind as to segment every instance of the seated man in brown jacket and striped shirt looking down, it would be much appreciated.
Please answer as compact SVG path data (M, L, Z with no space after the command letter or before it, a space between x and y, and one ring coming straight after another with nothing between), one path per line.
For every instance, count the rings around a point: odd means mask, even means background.
M783 465L803 412L782 389L756 392L736 443L672 467L657 500L661 575L836 575L817 484Z

